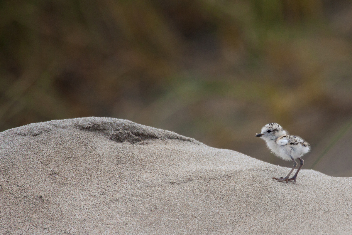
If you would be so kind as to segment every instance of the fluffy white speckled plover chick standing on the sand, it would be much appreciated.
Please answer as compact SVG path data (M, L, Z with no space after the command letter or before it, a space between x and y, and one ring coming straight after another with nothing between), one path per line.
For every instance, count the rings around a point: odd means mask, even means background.
M301 158L304 154L308 153L310 150L309 144L304 141L301 137L288 135L288 133L282 129L282 127L277 123L266 124L262 128L262 132L256 134L256 137L260 137L265 140L268 148L276 156L281 157L285 161L292 160L294 165L288 175L283 178L275 178L277 181L286 181L293 180L296 182L297 174L303 166L303 159ZM298 167L295 175L292 178L289 178L294 169L297 166L295 159L300 160L300 167Z

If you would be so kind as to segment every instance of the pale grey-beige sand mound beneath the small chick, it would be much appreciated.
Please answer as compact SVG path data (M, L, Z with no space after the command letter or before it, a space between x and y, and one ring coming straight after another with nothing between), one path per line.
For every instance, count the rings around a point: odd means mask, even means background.
M0 234L351 234L352 178L288 171L127 120L34 123L0 133Z

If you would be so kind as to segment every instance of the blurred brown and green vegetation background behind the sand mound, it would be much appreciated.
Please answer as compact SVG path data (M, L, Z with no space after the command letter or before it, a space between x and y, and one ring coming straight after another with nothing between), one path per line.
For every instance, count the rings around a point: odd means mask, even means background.
M291 167L278 122L352 177L351 76L350 0L0 1L0 131L124 118Z

